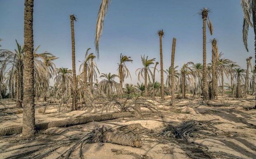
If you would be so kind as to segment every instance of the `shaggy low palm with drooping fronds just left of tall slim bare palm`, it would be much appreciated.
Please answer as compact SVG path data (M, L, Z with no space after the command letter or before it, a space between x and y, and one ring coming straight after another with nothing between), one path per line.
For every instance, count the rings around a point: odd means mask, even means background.
M54 87L57 88L57 93L59 94L59 92L62 92L62 96L66 97L65 92L69 86L72 85L72 70L63 67L57 68L54 81Z

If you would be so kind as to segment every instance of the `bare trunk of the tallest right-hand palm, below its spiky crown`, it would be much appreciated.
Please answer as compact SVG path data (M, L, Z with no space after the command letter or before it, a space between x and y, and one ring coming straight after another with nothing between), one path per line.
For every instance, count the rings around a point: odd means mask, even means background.
M204 100L208 99L207 95L207 71L206 71L206 17L203 19L203 96Z

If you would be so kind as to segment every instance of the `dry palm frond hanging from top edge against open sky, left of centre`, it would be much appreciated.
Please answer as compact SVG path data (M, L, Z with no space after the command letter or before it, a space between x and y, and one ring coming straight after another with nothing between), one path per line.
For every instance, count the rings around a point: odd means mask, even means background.
M95 29L95 49L96 49L96 54L97 57L99 58L100 52L99 52L99 43L100 43L100 37L102 35L103 31L103 24L104 24L104 18L107 14L107 10L109 7L109 3L111 3L111 0L102 0L100 4L100 9L98 12L97 16L97 24L96 24L96 29Z

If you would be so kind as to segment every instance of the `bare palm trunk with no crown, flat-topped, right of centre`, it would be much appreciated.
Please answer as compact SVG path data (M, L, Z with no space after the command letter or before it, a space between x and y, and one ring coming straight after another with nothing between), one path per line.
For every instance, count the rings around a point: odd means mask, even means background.
M171 51L171 105L175 106L175 79L174 79L174 58L175 58L176 39L173 38Z

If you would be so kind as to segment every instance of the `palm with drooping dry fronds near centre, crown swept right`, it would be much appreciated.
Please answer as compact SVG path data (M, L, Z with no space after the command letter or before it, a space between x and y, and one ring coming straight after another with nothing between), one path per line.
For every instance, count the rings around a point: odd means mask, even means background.
M133 63L133 60L130 59L130 56L127 57L127 56L122 55L122 53L121 53L121 55L120 55L120 63L117 64L118 65L118 76L119 76L121 90L123 89L124 78L128 78L129 75L130 75L130 71L126 67L125 62L132 62Z

